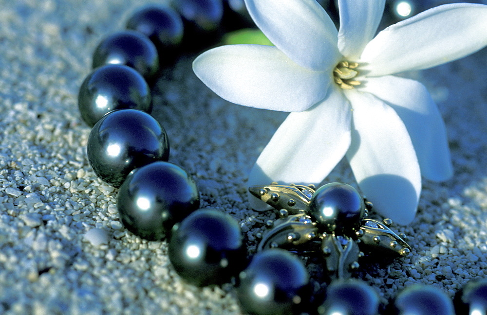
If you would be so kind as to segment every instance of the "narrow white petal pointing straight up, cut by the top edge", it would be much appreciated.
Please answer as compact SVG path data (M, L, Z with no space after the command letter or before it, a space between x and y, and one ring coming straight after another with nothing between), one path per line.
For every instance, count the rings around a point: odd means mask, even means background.
M374 38L384 12L386 0L339 0L340 30L338 50L346 59L354 61L365 45Z

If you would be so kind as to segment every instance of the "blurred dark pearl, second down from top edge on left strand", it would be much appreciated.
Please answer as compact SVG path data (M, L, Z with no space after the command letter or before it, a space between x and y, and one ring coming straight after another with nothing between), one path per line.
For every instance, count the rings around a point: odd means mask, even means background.
M176 46L183 38L183 20L169 6L154 4L139 9L127 20L127 28L146 35L157 48Z

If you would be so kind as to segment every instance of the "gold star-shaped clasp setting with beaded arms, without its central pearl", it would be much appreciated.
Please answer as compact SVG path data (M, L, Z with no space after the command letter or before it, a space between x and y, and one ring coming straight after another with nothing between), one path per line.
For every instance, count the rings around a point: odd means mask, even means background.
M308 242L313 246L317 245L315 240L321 239L321 254L331 278L350 277L358 268L357 261L363 256L363 252L378 251L396 257L407 256L411 252L406 236L402 233L396 234L389 228L393 224L391 219L379 222L368 218L368 210L373 205L366 199L366 210L360 226L350 232L350 235L335 235L334 232L319 234L317 223L307 215L315 193L314 186L278 185L274 182L267 186L252 186L248 190L279 210L280 218L266 223L270 229L263 233L258 250L273 247L289 249Z

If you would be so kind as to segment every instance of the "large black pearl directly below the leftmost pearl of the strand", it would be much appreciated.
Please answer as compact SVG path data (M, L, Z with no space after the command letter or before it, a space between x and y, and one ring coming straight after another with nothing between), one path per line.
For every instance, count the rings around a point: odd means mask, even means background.
M103 116L90 132L88 159L94 173L119 187L136 167L169 159L164 128L148 113L121 109Z

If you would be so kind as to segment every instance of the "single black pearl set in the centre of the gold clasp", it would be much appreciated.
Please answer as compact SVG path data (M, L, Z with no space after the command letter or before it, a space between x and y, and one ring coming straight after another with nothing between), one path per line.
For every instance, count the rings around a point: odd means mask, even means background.
M352 186L329 183L313 194L309 209L310 215L327 233L341 234L359 225L365 212L365 204Z

